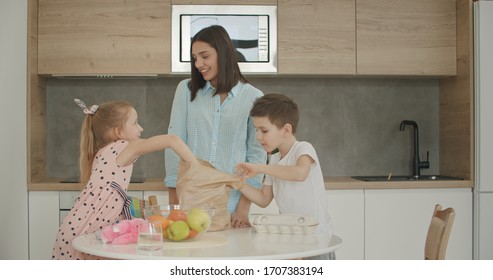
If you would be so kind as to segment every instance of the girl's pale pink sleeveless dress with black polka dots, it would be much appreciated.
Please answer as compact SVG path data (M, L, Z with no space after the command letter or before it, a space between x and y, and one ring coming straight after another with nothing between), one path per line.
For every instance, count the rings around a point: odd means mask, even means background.
M77 236L101 230L118 220L131 219L126 194L133 163L120 167L116 158L128 142L117 140L100 149L92 165L91 177L63 220L53 247L53 259L96 259L72 247Z

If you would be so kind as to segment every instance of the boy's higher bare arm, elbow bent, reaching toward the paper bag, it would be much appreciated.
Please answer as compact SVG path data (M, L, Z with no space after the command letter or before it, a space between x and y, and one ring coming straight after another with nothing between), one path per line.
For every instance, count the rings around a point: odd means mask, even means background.
M308 177L313 162L314 160L309 155L300 156L296 165L291 166L242 162L236 166L235 173L244 178L263 173L281 180L303 182Z

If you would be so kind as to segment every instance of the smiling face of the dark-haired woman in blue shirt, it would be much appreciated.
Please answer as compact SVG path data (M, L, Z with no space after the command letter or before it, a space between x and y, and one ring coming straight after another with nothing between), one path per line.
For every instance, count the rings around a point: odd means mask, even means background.
M210 81L212 86L216 87L218 72L216 49L206 42L195 41L192 45L192 59L204 80Z

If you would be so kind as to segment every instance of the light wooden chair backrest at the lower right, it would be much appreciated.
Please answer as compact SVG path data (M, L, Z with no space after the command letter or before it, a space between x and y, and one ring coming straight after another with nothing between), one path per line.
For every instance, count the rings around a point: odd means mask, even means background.
M442 210L437 204L431 217L430 227L426 236L425 260L443 260L447 250L448 238L455 219L455 211L449 207Z

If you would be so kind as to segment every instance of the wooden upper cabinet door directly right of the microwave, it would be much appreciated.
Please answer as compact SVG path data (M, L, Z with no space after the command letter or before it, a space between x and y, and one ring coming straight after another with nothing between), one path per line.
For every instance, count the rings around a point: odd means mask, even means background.
M279 74L356 74L354 0L278 0Z

